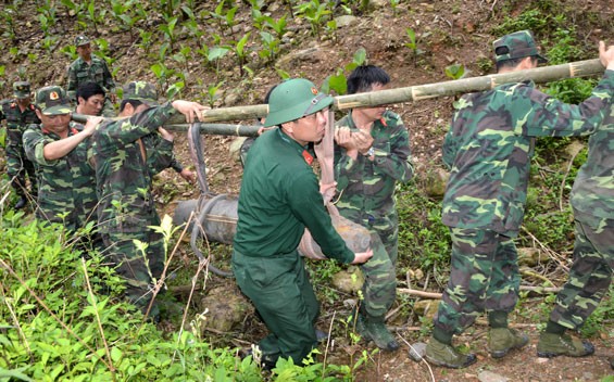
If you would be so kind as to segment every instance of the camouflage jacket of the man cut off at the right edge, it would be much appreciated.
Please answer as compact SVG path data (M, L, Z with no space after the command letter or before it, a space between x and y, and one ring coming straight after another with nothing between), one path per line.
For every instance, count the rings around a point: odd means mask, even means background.
M576 175L571 202L578 220L614 220L614 105L589 138L588 157Z

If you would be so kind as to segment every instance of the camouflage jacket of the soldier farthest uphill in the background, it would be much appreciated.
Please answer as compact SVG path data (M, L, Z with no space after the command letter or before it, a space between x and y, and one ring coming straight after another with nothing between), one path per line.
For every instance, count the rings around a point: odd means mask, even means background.
M66 93L71 100L75 101L79 85L85 82L96 82L100 85L106 93L115 92L115 81L113 81L106 62L93 54L91 55L91 64L88 64L82 58L77 58L77 60L73 61L71 66L68 66Z

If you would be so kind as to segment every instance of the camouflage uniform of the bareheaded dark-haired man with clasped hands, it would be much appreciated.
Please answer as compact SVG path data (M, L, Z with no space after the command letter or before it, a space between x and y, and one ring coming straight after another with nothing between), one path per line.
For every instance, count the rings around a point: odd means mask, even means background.
M358 131L351 113L336 127ZM337 208L341 216L369 229L373 257L360 266L367 282L361 306L366 317L384 317L394 303L399 224L394 183L413 175L409 135L401 117L390 111L373 124L375 160L360 155L352 160L335 145L335 178L340 192ZM376 291L376 292L375 292Z

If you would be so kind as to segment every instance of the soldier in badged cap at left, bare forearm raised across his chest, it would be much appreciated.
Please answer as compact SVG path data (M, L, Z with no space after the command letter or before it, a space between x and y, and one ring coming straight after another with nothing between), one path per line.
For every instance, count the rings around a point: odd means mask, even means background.
M59 86L38 89L35 105L41 123L30 125L23 141L38 168L36 217L74 232L96 221L98 200L95 174L87 163L87 139L101 118L88 122L83 131L71 128L71 102Z

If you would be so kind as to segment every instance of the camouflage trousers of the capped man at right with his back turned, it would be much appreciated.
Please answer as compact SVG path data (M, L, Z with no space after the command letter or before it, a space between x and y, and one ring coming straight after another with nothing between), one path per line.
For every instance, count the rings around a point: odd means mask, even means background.
M490 230L451 228L450 280L435 326L462 333L484 311L512 311L521 277L512 239Z

